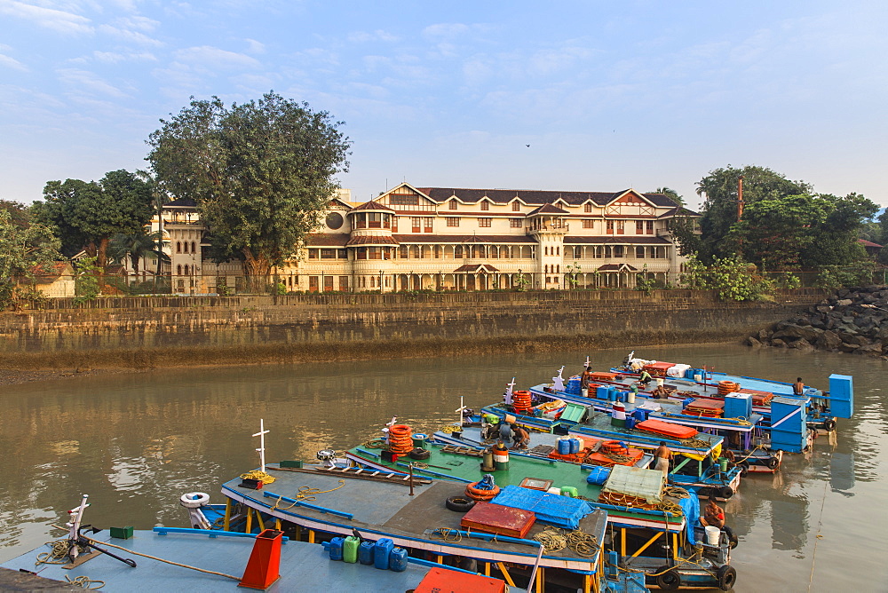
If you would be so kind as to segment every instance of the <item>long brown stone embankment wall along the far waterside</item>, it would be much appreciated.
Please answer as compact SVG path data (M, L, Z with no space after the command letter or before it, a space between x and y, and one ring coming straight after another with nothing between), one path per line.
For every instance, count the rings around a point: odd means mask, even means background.
M101 298L0 314L0 368L153 368L740 341L823 293L637 291Z

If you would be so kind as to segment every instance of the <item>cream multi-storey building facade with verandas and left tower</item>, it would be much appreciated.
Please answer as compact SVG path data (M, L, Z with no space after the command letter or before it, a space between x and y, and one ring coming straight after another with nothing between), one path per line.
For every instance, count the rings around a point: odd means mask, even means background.
M698 217L663 194L415 187L370 202L341 190L324 225L275 270L292 291L633 288L676 281L685 259L674 217ZM163 210L173 292L242 286L238 262L214 264L194 202Z

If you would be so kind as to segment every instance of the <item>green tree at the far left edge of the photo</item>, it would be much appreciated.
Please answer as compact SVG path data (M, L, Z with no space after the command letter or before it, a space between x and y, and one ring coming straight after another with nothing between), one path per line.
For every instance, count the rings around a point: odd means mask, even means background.
M59 240L52 229L38 224L22 227L9 211L0 210L0 305L13 304L20 283L59 258Z

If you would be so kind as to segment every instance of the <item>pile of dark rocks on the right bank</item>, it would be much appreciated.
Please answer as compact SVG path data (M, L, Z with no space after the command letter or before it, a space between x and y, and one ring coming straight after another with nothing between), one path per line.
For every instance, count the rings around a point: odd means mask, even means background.
M886 320L888 286L841 289L807 312L749 336L747 344L885 356Z

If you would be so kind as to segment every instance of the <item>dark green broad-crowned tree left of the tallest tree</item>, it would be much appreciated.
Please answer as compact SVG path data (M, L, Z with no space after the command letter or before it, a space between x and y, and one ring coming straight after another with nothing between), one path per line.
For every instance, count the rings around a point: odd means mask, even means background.
M102 270L111 237L139 233L152 213L147 184L126 170L110 171L98 182L50 181L44 198L34 206L36 220L54 227L66 255L85 249Z

